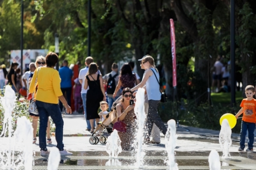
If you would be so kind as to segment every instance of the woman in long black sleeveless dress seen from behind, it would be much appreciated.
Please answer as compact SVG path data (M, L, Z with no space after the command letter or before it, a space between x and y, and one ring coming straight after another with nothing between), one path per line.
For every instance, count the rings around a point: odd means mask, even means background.
M84 88L89 90L86 94L86 119L90 121L91 132L94 130L94 119L97 123L100 121L98 109L100 101L106 101L106 94L103 87L102 75L98 74L98 66L95 62L89 65L88 73L85 76Z

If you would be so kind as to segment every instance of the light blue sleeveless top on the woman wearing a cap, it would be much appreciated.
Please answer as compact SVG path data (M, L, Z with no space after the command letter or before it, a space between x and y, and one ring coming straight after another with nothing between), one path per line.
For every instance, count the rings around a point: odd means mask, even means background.
M151 69L154 73L152 76L149 76L149 79L146 81L146 90L148 95L148 100L160 101L161 93L160 93L160 85L157 82L159 81L159 73L156 72L154 68ZM156 80L157 77L157 80Z

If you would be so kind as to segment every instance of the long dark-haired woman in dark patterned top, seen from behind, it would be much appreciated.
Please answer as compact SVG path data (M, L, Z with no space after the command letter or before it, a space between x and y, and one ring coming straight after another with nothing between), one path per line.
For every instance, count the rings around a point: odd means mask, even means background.
M113 97L115 98L117 96L117 91L121 87L128 87L132 88L135 84L139 83L139 80L137 80L136 75L132 73L132 68L128 63L125 63L121 68L121 75L119 76L119 80L115 89L115 92L113 94Z

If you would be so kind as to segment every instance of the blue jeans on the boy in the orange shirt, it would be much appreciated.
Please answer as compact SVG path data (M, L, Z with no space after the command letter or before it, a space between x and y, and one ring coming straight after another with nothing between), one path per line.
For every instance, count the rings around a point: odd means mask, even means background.
M245 148L245 136L248 130L248 148L253 149L255 123L242 121L240 132L240 147Z

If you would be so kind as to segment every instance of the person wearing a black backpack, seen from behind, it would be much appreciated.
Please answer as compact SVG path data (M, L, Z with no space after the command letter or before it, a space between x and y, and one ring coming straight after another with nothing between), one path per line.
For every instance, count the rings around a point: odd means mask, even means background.
M106 74L105 76L103 76L103 81L105 81L105 83L107 83L107 98L108 98L108 106L109 106L109 111L111 110L112 104L114 103L114 101L117 100L117 98L120 96L121 92L120 90L117 92L117 96L114 98L113 94L115 92L117 83L118 83L118 65L117 63L113 63L112 67L111 67L112 71L108 74Z

